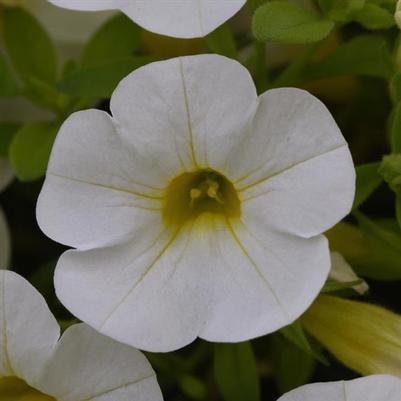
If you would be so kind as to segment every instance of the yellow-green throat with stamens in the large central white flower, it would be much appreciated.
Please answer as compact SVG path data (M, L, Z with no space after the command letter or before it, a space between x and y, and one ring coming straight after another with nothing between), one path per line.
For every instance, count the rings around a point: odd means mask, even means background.
M240 201L234 185L222 174L210 169L174 178L165 193L165 222L182 225L202 213L239 217Z

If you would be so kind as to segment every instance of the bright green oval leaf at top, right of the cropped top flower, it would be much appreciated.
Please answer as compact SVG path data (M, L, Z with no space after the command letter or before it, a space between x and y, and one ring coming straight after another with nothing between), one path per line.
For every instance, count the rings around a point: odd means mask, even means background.
M252 20L256 39L281 43L312 43L324 39L334 23L294 3L270 1L259 7Z

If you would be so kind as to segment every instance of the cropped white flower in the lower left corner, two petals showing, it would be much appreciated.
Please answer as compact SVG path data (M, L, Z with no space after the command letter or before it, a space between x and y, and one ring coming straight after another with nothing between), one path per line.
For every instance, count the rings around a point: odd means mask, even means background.
M138 350L85 324L59 335L43 297L18 274L1 271L1 400L162 400L155 374Z

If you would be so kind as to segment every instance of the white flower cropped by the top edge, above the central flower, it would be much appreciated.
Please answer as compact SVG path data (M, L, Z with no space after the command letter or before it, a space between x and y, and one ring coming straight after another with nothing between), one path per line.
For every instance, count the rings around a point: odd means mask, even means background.
M206 36L231 18L246 0L49 0L73 10L121 10L138 25L177 38Z

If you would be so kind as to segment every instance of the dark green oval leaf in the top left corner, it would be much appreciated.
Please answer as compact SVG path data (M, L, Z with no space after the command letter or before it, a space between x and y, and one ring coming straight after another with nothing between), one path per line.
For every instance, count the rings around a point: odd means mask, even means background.
M56 52L50 37L27 11L17 7L4 8L4 40L17 72L24 78L35 77L55 82Z

